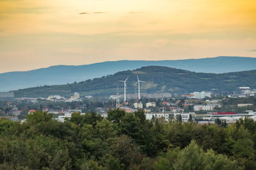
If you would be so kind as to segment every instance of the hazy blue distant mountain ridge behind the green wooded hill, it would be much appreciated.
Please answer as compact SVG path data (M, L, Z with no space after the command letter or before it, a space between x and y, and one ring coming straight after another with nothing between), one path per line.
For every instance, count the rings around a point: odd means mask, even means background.
M118 60L81 66L51 66L32 71L15 71L0 74L0 91L60 85L99 78L118 71L142 66L166 66L198 73L228 73L256 69L256 58L214 57L186 60Z

